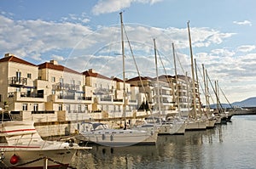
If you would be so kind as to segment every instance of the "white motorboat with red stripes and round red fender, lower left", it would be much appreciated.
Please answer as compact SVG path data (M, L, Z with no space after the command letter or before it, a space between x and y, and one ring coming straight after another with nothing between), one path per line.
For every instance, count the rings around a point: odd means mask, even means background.
M1 112L1 168L67 168L78 144L45 141L33 121L12 121L9 112Z

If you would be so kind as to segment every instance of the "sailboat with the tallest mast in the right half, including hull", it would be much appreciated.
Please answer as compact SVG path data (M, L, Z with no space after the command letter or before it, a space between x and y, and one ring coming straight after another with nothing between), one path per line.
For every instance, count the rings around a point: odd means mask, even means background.
M189 30L189 22L187 24L188 24L188 31L189 31L189 49L190 49L192 86L193 86L193 103L192 103L193 108L192 110L190 110L188 119L186 120L186 130L205 130L207 128L206 121L202 119L200 115L197 114L196 96L195 96L194 59L193 59L191 36L190 36L190 30Z

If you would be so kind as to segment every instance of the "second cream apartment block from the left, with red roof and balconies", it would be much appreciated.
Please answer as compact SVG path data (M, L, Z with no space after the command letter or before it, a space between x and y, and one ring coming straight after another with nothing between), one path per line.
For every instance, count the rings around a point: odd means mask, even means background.
M38 86L45 86L47 102L45 110L54 110L57 121L79 121L88 119L92 93L85 94L85 77L57 61L50 60L38 65Z

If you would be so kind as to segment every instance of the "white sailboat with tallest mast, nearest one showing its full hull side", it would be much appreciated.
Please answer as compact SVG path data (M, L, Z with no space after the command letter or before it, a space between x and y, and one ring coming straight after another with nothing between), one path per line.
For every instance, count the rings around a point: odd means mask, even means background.
M126 116L126 91L125 91L125 43L124 43L124 24L122 19L122 13L120 14L121 21L121 47L123 57L123 115ZM128 129L126 118L125 128L112 129L108 125L99 122L83 122L81 124L80 137L76 137L79 140L88 141L92 144L102 144L111 147L130 146L135 144L155 144L157 140L157 132L152 130L137 130Z

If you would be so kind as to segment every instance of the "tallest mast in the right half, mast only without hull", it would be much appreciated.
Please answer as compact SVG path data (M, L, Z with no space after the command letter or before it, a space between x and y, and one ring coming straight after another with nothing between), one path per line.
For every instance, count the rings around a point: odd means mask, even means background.
M190 59L191 59L191 74L192 74L192 85L193 85L193 106L196 115L196 102L195 102L195 73L194 73L194 62L193 62L193 52L192 52L192 42L189 30L189 21L188 21L188 31L189 31L189 49L190 49Z

